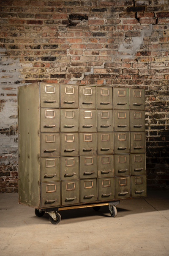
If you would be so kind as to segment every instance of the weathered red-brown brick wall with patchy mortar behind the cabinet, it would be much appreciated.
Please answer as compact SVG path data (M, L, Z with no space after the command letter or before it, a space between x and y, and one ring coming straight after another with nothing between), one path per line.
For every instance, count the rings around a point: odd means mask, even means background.
M147 185L169 189L169 0L0 1L0 191L17 191L17 86L146 88Z

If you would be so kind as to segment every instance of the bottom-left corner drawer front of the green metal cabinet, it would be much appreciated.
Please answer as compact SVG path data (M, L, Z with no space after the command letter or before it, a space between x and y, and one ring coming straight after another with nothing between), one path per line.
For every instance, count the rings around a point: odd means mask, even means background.
M41 183L41 208L60 205L60 181Z

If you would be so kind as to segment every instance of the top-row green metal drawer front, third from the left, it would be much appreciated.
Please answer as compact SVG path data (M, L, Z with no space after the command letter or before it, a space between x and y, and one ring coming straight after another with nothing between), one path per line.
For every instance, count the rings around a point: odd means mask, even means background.
M79 108L95 108L95 87L79 86Z

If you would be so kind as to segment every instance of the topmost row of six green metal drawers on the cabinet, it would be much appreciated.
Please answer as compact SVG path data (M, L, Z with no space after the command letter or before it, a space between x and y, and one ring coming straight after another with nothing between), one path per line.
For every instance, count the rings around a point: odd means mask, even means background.
M40 84L41 107L144 110L144 89Z

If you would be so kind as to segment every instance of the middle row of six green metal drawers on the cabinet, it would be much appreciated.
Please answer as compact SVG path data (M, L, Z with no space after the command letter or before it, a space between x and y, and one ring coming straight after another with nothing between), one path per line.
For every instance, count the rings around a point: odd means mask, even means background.
M145 132L41 133L41 157L145 152Z

